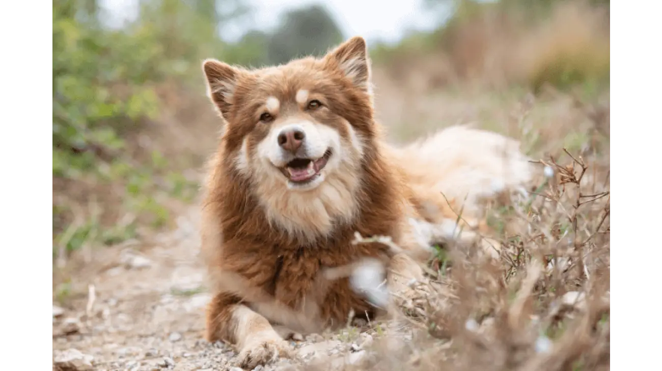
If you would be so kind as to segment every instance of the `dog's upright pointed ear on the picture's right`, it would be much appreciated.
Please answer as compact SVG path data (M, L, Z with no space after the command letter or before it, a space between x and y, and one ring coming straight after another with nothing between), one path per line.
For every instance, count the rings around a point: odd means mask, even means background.
M330 51L324 58L327 63L340 69L357 88L372 94L370 59L365 40L361 36L354 36L347 40L335 50Z

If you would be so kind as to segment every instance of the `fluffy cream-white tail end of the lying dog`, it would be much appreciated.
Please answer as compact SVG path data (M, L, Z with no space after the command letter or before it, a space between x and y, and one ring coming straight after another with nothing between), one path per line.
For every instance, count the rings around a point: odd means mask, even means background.
M481 201L504 192L526 195L534 176L518 141L465 125L448 127L396 152L414 189L443 193L465 211L477 211Z

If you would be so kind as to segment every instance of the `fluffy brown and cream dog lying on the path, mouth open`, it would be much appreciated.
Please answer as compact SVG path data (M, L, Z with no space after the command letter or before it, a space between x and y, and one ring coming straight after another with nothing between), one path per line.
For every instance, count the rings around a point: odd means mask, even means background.
M496 133L459 126L386 143L359 36L324 57L253 70L207 59L203 71L224 121L202 207L213 291L205 337L234 345L244 368L293 355L281 328L383 314L376 295L353 287L357 264L383 264L386 287L406 288L432 240L455 238L457 199L460 224L483 228L471 219L479 200L531 177L519 144Z

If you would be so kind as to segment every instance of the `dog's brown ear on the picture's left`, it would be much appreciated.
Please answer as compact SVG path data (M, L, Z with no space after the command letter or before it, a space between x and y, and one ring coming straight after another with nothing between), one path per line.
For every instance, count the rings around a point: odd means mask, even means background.
M222 117L228 120L234 101L234 90L241 72L216 59L205 59L203 71L207 78L207 96Z

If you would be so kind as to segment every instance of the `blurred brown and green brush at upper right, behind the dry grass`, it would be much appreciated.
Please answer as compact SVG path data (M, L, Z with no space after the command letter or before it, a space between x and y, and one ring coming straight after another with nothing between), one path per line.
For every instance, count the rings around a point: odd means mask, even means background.
M440 19L451 17L434 32L378 46L377 63L401 68L435 55L448 68L431 74L453 76L433 79L478 77L534 91L610 81L610 0L426 0L426 6Z

